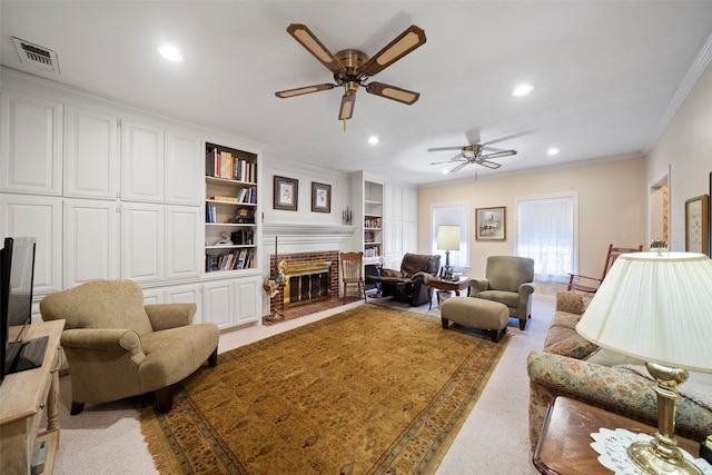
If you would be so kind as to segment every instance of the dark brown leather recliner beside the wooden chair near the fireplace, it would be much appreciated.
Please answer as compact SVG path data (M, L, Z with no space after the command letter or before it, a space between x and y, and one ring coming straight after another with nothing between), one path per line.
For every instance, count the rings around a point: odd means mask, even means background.
M406 253L400 270L382 269L379 276L366 276L366 281L380 285L384 297L407 301L412 306L428 301L427 283L436 277L441 256Z

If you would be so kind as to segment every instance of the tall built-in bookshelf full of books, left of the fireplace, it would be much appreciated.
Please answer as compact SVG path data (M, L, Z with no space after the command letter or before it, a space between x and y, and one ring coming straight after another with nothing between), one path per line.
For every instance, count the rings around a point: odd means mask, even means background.
M205 271L257 266L257 155L206 144Z

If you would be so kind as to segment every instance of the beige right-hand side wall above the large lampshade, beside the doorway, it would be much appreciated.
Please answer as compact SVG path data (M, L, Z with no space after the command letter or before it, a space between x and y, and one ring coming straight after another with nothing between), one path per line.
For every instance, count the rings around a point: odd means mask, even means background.
M712 66L702 73L647 156L646 185L670 166L670 244L685 250L685 200L710 192Z

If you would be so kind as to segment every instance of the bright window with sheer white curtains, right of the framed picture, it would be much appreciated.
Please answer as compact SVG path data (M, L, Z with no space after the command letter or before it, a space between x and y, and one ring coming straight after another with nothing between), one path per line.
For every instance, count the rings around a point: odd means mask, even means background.
M563 283L574 271L576 194L517 198L515 254L534 259L534 278Z

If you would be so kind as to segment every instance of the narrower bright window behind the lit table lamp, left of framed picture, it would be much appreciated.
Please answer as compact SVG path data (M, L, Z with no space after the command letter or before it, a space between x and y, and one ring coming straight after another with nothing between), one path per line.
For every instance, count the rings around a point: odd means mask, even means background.
M437 248L437 227L441 225L459 226L459 250L449 251L449 265L462 273L469 267L469 204L435 205L431 208L431 254L441 256L445 265L445 250Z

